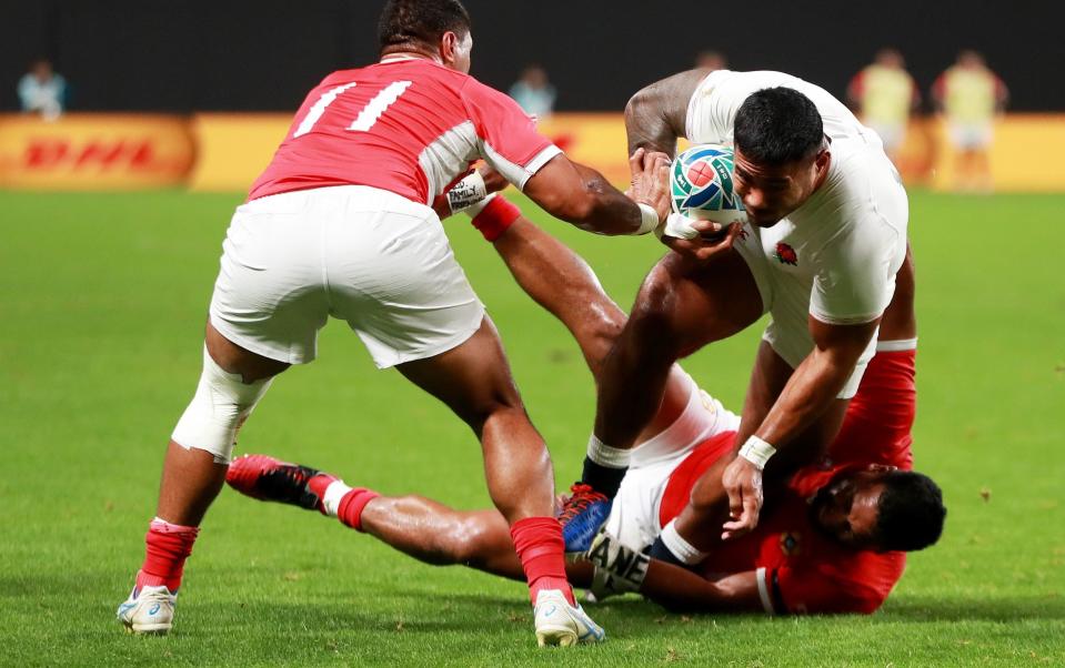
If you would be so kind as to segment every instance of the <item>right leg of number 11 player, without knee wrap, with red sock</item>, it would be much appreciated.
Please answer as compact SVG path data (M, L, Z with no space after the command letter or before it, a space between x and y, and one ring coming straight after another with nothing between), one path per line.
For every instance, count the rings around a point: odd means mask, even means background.
M566 580L551 458L525 413L492 321L485 316L458 347L396 368L446 404L480 438L489 494L511 527L536 605L537 641L602 639L602 629L583 614ZM556 624L560 616L564 619Z

